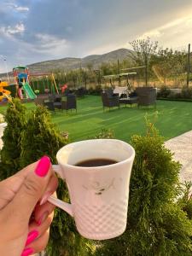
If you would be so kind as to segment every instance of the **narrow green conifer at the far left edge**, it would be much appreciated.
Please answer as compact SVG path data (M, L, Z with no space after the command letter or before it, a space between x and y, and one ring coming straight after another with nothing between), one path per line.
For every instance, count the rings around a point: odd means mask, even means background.
M21 133L26 129L26 108L20 99L12 99L5 114L0 177L9 177L20 170Z

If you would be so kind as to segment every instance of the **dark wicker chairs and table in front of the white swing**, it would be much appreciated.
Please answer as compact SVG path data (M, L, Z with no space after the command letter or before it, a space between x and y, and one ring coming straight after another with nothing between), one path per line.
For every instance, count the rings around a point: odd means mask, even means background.
M119 94L113 94L113 90L109 89L102 92L102 106L104 108L108 107L118 107L120 104L137 104L138 108L141 106L148 107L149 105L154 105L156 108L156 89L152 87L137 87L129 97L119 97Z

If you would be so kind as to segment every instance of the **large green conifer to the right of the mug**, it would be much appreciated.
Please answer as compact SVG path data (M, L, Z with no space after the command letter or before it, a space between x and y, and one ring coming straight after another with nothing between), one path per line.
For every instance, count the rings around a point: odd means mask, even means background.
M96 256L189 256L192 222L177 204L180 165L148 123L146 136L131 141L136 159L131 172L125 233L97 247Z

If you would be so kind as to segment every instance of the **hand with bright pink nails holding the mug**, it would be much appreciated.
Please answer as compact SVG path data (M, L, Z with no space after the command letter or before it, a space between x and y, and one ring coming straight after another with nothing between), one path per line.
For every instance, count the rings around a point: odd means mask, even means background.
M47 156L0 182L0 255L44 250L55 208L47 199L56 188Z

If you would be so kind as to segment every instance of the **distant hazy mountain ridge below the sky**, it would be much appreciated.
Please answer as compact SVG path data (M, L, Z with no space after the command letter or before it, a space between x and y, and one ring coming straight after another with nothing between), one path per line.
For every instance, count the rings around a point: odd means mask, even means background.
M116 49L103 55L89 55L84 58L63 58L52 61L41 61L27 65L27 67L29 67L31 73L43 73L55 69L69 71L79 67L86 68L88 66L98 68L103 62L112 63L118 60L123 61L127 58L131 58L133 53L134 52L131 49ZM5 74L0 74L0 76L3 77Z

